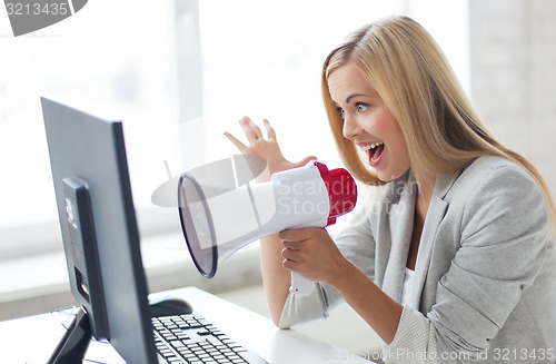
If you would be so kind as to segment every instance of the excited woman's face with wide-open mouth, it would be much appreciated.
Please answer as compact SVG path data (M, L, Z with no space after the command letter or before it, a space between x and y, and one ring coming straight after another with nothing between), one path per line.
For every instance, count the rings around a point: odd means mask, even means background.
M410 167L406 140L373 86L347 63L330 73L328 89L344 119L344 137L367 153L378 178L388 181L404 175Z

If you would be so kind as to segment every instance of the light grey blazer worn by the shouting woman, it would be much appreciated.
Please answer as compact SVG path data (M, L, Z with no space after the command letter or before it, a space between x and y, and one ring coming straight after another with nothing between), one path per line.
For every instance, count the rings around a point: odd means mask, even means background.
M385 185L370 210L360 209L336 239L398 302L415 194L408 171ZM543 194L523 168L484 156L437 178L413 299L415 308L404 307L394 342L384 346L386 362L556 362L554 232ZM290 295L280 325L326 317L340 301L325 284L309 297Z

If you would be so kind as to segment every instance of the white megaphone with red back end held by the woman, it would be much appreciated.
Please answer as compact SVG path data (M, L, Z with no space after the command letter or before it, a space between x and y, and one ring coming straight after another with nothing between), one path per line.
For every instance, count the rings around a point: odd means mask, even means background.
M357 186L344 168L328 170L309 161L271 176L268 183L230 189L215 180L183 173L178 184L181 228L201 275L215 276L218 265L264 236L288 228L326 227L354 209ZM291 273L290 292L308 295L312 282Z

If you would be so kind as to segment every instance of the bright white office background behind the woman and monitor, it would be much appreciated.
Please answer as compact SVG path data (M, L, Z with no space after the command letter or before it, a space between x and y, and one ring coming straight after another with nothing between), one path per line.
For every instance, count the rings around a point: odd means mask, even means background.
M320 101L321 62L350 30L393 13L433 33L486 125L556 190L555 1L90 1L34 36L0 38L0 321L75 303L41 95L123 121L151 292L196 286L268 315L258 243L206 279L177 209L150 195L171 176L237 154L222 132L241 136L244 115L268 118L288 158L341 166ZM346 305L297 329L354 353L380 346Z

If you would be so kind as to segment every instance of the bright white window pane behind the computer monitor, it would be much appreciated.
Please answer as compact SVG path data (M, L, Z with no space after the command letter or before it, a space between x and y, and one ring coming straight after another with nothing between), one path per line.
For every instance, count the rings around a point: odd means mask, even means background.
M151 206L175 144L169 13L168 1L90 2L56 26L0 39L2 257L61 252L40 96L123 120L136 204Z

